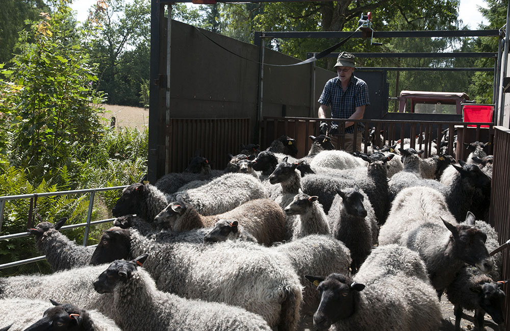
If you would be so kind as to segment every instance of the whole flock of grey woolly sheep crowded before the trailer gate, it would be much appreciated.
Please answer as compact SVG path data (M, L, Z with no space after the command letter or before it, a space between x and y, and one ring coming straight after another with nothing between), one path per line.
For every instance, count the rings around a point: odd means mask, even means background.
M438 330L444 292L502 326L492 157L422 159L409 146L351 155L310 136L242 145L225 170L124 189L96 247L29 229L55 271L0 278L0 330ZM1 327L4 327L2 329Z

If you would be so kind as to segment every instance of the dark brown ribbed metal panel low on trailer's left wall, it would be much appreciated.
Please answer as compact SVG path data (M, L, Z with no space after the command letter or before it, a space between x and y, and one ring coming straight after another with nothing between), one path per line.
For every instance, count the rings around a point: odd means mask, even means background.
M169 172L184 171L197 149L213 169L224 169L227 155L238 154L251 136L249 118L172 118L168 130Z

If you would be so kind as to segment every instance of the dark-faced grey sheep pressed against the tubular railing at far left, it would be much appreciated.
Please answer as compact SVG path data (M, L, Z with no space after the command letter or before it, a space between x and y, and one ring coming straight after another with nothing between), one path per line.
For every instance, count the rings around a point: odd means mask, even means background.
M94 248L78 245L59 232L66 221L67 218L61 218L55 224L41 222L28 229L35 236L37 249L46 256L53 271L85 266L94 252Z

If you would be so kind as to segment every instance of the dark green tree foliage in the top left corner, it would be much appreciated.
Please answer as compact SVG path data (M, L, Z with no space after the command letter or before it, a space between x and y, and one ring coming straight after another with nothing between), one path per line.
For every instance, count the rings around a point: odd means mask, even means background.
M2 0L0 10L0 63L12 59L18 33L29 28L25 20L34 20L40 12L47 12L48 7L42 0Z

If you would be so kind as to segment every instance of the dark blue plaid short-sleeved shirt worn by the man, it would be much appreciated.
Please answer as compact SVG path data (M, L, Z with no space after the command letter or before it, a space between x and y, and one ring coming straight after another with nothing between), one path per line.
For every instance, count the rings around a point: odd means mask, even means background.
M326 82L318 102L331 106L331 118L349 118L356 111L356 107L370 105L367 83L352 75L344 92L340 79L332 78ZM365 125L358 123L358 131L364 130ZM353 132L354 125L345 129L345 133Z

